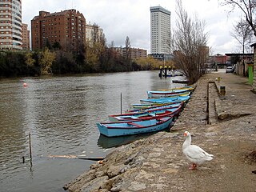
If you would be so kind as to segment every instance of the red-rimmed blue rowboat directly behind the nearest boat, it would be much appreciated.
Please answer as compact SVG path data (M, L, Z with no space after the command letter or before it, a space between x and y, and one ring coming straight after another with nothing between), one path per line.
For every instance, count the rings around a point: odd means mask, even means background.
M111 122L121 122L121 121L140 121L152 118L163 118L166 116L174 115L178 116L180 111L182 110L182 103L177 107L169 107L169 108L160 108L154 110L146 110L146 111L137 111L127 114L112 114L109 116Z

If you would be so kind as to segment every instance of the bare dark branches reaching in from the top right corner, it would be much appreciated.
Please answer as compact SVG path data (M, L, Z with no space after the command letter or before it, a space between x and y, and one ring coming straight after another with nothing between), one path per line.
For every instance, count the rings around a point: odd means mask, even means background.
M231 12L234 8L238 8L242 10L246 18L246 22L251 27L251 30L254 32L254 36L256 36L256 26L255 26L255 10L256 10L256 2L255 0L222 0L222 6L230 6Z

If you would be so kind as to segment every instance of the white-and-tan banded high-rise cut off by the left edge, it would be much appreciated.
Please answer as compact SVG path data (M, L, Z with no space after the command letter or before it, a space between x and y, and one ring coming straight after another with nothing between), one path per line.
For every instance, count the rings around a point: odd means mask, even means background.
M0 1L0 49L22 50L22 1Z

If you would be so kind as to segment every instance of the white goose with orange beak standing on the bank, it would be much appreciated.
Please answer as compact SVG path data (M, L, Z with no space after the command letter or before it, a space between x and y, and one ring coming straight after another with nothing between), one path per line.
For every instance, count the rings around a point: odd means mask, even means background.
M186 155L186 158L188 158L190 162L193 163L192 166L190 166L190 170L195 170L197 165L201 165L202 163L213 159L213 154L208 154L199 146L191 145L190 132L185 131L184 136L186 137L186 140L182 145L182 151L183 154Z

